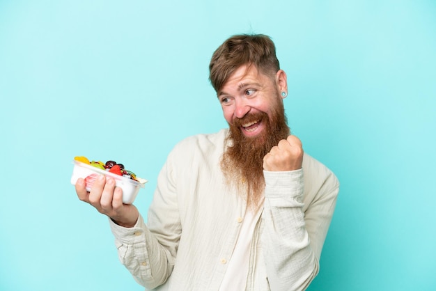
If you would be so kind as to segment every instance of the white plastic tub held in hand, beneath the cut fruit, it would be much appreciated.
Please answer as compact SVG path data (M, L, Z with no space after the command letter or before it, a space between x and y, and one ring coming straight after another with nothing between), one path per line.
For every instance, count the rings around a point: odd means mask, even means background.
M132 204L137 198L139 189L145 187L147 180L137 178L138 181L128 177L116 175L109 171L104 171L90 164L85 164L79 161L73 161L74 168L72 169L71 184L75 185L77 179L83 178L86 182L86 190L91 191L91 187L98 175L107 175L115 180L115 186L123 189L123 203Z

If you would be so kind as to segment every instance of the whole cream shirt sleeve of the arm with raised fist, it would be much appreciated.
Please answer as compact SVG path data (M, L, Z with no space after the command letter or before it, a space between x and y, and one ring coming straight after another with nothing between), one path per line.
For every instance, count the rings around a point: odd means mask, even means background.
M304 171L264 171L262 239L271 290L305 290L318 274L338 182L327 168L307 179Z

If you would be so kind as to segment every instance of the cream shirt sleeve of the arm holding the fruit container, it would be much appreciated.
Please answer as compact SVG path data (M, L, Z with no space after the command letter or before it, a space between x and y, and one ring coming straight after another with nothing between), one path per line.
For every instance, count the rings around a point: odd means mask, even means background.
M180 240L178 204L168 168L167 162L159 173L148 225L141 215L133 228L118 226L109 219L120 262L148 289L162 285L171 275Z

